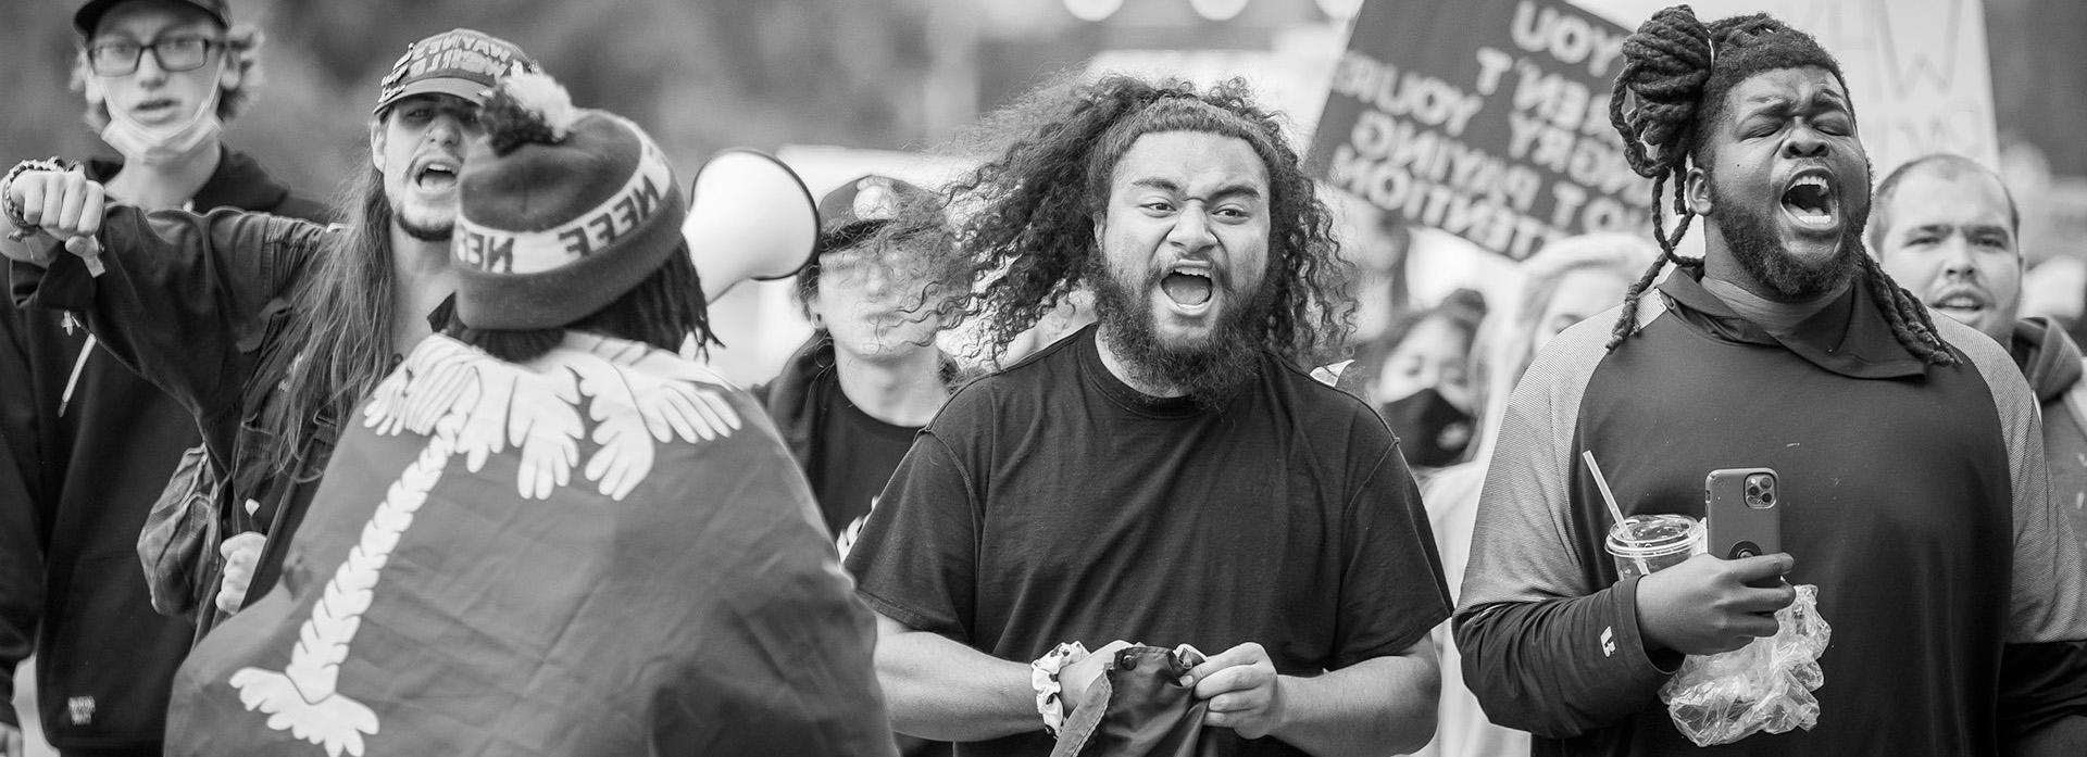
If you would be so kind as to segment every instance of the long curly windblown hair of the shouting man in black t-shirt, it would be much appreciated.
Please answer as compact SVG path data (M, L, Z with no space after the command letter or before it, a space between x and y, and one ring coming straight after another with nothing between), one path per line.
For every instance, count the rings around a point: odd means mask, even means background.
M1196 131L1246 142L1269 173L1271 309L1258 340L1294 361L1334 355L1352 329L1352 279L1336 254L1334 223L1281 133L1281 117L1252 102L1246 81L1206 92L1177 79L1106 75L1054 81L981 121L995 158L945 188L964 217L958 257L970 288L939 302L943 323L977 319L991 361L1081 282L1104 269L1096 221L1108 211L1117 163L1146 133Z

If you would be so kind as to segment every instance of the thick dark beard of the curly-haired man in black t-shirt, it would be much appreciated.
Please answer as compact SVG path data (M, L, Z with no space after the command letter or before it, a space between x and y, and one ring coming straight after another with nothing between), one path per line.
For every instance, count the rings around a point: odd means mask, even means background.
M1204 411L1221 411L1261 371L1261 344L1267 336L1271 290L1261 286L1252 298L1242 298L1229 282L1227 302L1244 302L1219 315L1217 329L1198 344L1171 346L1158 336L1152 298L1158 273L1142 284L1123 282L1106 263L1096 263L1087 275L1094 282L1094 309L1108 334L1108 348L1123 359L1133 380L1148 386L1173 386Z

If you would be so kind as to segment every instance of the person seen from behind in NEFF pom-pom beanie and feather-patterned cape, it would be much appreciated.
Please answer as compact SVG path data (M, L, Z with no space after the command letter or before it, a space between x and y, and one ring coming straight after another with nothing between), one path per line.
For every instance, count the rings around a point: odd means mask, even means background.
M543 75L484 123L455 309L190 655L169 753L891 755L803 475L674 352L710 325L664 152Z

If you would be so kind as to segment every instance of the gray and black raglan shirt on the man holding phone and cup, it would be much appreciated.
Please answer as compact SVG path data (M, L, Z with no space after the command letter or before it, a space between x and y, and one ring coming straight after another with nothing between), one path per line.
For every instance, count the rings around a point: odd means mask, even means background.
M1711 469L1778 471L1789 580L1832 624L1820 722L1701 753L1989 755L2087 717L2087 567L1999 344L1937 317L1962 361L1926 365L1862 286L1768 334L1684 273L1611 352L1613 317L1559 336L1501 430L1457 609L1488 717L1536 755L1699 753L1659 703L1678 657L1638 636L1582 450L1628 515L1703 517Z

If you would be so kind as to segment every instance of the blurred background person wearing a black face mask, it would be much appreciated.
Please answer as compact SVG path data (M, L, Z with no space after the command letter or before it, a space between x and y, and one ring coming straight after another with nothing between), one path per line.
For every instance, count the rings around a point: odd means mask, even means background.
M1359 386L1398 436L1398 453L1423 488L1430 473L1471 446L1471 346L1484 319L1484 294L1450 292L1440 304L1394 319L1384 336L1354 350L1354 365L1340 375L1342 388Z

